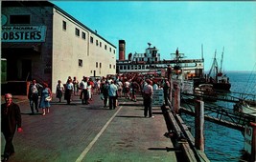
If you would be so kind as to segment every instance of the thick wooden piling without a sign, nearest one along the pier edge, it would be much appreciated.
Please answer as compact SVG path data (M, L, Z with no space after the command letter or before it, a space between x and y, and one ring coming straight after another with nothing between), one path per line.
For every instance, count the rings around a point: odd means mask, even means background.
M195 100L195 147L204 152L204 135L203 135L203 125L204 125L204 102L200 100Z

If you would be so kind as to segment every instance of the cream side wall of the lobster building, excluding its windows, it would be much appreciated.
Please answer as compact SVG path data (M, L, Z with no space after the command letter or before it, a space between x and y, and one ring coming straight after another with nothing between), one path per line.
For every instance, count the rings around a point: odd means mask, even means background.
M66 23L66 30L63 30L63 21ZM114 46L60 10L54 9L53 22L53 83L55 85L59 79L65 83L68 76L72 78L77 76L81 81L82 76L94 74L105 76L115 73L116 70L113 67L116 68L116 48ZM76 29L79 30L79 36L76 35ZM82 32L85 33L85 39L82 38ZM82 60L82 65L79 65L79 60ZM96 67L97 64L98 67Z

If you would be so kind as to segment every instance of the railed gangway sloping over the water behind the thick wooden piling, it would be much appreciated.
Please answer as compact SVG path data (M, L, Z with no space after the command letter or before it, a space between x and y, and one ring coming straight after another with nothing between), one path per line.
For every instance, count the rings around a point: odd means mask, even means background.
M180 112L195 115L195 102L193 98L181 95ZM239 130L244 133L245 125L249 122L255 122L256 116L248 115L241 112L235 112L228 108L205 102L204 104L205 120L216 124Z

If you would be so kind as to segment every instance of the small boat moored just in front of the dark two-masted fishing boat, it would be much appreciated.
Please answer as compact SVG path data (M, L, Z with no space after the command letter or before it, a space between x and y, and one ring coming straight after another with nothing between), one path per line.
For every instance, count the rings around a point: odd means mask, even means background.
M202 97L205 101L217 101L217 93L212 84L200 84L194 91L196 96Z

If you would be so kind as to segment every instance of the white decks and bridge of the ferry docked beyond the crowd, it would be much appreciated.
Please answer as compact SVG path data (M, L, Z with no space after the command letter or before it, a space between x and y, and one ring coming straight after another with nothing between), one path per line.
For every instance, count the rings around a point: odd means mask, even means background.
M167 75L167 68L172 67L174 74L183 73L186 79L201 78L204 71L204 60L201 59L184 59L184 53L179 53L178 49L173 59L161 60L160 53L155 47L149 47L145 52L128 54L128 60L117 60L117 73L137 72L141 74L150 74L151 76Z

